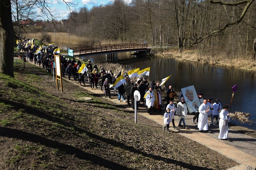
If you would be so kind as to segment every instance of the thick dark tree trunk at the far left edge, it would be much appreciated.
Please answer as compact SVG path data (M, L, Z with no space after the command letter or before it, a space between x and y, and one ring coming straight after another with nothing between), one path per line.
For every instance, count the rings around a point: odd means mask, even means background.
M0 0L0 26L0 72L14 77L14 33L10 0Z

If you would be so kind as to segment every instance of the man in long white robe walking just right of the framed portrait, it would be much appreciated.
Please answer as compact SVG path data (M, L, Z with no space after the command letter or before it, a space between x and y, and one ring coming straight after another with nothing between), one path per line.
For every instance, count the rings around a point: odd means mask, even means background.
M210 112L210 107L207 104L207 100L203 100L203 103L199 107L199 118L198 118L198 125L200 132L203 130L205 133L210 133L211 131L208 130L208 113Z

